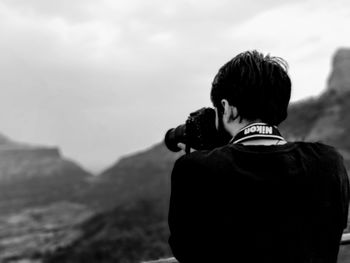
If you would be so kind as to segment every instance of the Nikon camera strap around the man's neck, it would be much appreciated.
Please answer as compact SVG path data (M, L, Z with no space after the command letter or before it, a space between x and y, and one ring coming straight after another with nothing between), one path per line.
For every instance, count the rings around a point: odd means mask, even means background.
M242 128L237 135L232 138L230 143L241 143L253 139L277 139L286 141L276 126L256 122Z

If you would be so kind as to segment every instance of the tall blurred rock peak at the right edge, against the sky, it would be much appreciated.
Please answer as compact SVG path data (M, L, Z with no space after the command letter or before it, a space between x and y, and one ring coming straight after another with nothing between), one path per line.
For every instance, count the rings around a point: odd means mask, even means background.
M350 49L339 49L333 58L333 72L328 89L337 93L350 91Z

